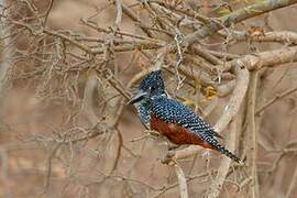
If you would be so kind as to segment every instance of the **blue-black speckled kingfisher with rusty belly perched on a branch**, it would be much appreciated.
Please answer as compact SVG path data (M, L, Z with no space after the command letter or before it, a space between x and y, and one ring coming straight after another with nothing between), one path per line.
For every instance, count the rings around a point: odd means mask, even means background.
M189 107L172 99L165 91L161 70L154 70L141 81L138 94L128 105L136 108L141 122L176 145L195 144L241 160L218 142L222 136Z

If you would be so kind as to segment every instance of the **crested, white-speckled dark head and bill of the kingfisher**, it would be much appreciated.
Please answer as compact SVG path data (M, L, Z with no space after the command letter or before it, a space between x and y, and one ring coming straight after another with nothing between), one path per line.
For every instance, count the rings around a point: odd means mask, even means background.
M134 105L161 95L166 95L162 72L154 70L145 76L140 84L139 92L128 103Z

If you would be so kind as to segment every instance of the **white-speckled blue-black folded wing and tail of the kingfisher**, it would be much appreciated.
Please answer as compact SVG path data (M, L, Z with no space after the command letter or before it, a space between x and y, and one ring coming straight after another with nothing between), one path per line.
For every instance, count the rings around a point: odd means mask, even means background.
M166 97L155 97L151 103L152 113L167 123L177 123L198 135L202 141L211 144L217 151L228 157L240 162L240 158L219 144L215 136L219 136L210 124L205 122L190 108L182 102L168 99Z

